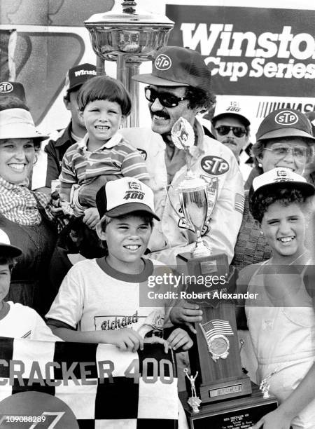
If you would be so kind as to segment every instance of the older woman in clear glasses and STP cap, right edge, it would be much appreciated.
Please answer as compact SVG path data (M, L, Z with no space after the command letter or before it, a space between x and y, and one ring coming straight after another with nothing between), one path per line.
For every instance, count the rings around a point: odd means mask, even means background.
M300 111L272 111L260 124L256 139L257 142L252 148L256 168L246 182L249 188L255 175L261 175L276 167L289 168L299 175L304 175L307 165L312 161L315 138L311 134L311 124L307 116ZM306 179L312 182L310 177ZM245 194L243 221L232 261L232 265L239 269L269 259L272 252L249 212L248 193L251 191L246 191Z

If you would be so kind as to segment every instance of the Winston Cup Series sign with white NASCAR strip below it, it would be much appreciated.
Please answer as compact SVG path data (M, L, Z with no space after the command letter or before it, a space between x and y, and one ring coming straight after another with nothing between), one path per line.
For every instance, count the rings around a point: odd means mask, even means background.
M166 14L175 22L168 44L201 53L214 93L244 102L253 130L276 109L315 110L315 10L192 1L167 4Z

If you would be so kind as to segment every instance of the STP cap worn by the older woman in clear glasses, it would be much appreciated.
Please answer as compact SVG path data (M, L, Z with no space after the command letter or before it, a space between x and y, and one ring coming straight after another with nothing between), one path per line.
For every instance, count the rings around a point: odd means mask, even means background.
M272 111L260 124L256 139L273 139L277 137L307 137L311 135L311 124L302 112L295 109L280 109Z

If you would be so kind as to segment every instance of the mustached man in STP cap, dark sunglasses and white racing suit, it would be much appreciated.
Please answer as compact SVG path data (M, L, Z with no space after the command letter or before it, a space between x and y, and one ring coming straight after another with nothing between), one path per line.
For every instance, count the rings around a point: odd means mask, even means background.
M231 261L241 224L243 184L232 152L205 135L196 119L213 100L209 68L195 50L165 46L155 53L152 73L133 79L146 84L144 95L151 114L151 130L121 131L146 158L155 207L162 219L148 243L150 257L175 265L176 254L190 251L196 240L195 233L186 226L177 191L186 177L186 157L183 150L174 147L171 138L174 123L183 117L195 131L195 146L190 148L189 155L193 172L208 180L218 179L218 199L203 238L214 252L225 252ZM172 203L167 197L167 186Z

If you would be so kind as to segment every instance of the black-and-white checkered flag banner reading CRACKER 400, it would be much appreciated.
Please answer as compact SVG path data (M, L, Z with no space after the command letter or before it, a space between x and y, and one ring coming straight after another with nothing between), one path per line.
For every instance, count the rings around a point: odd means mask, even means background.
M132 353L0 337L0 429L174 429L179 409L174 356L161 344Z

